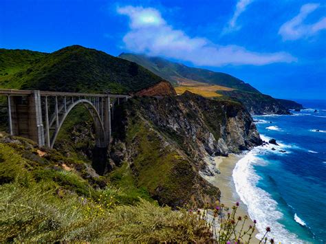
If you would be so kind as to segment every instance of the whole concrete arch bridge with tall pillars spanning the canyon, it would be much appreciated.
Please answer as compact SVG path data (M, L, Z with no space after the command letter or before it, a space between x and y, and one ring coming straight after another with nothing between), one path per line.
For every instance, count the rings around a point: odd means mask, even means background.
M10 135L27 137L39 146L53 148L56 137L72 109L83 104L95 124L96 146L107 148L111 138L114 104L130 96L0 89L8 98Z

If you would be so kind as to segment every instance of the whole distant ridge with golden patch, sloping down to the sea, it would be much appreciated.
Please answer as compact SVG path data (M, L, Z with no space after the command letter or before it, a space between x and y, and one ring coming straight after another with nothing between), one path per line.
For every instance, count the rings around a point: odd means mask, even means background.
M138 63L157 76L169 80L177 92L188 90L219 100L236 100L242 102L252 114L288 114L288 109L302 108L301 104L294 101L276 100L265 95L248 83L229 74L187 67L164 58L142 54L122 53L119 57Z

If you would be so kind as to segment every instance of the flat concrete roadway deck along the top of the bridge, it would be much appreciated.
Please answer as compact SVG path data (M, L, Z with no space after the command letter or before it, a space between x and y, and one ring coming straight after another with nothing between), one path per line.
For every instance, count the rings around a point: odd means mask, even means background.
M16 90L16 89L0 89L0 95L10 96L28 96L32 94L31 90ZM69 96L69 97L98 97L98 98L131 98L127 95L116 94L98 94L98 93L78 93L78 92L62 92L62 91L40 91L41 96Z

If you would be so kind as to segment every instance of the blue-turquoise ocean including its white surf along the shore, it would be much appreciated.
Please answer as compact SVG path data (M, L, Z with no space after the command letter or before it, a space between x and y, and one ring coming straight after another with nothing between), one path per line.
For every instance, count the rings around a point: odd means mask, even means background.
M298 102L308 109L254 116L261 139L279 146L254 148L232 177L258 237L269 226L276 243L326 243L326 101Z

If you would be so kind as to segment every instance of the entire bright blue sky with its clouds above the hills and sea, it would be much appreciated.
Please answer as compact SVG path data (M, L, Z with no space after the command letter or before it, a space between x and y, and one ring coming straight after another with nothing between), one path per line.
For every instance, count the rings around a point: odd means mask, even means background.
M0 47L163 56L276 98L326 99L325 43L325 0L0 1Z

